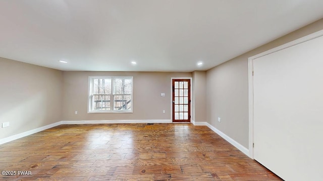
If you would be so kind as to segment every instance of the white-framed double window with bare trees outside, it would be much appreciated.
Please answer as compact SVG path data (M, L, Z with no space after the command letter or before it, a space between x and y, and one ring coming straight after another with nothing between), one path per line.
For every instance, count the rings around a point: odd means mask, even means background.
M89 113L132 113L133 77L89 76Z

